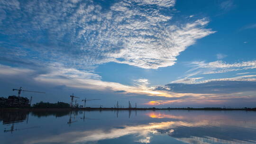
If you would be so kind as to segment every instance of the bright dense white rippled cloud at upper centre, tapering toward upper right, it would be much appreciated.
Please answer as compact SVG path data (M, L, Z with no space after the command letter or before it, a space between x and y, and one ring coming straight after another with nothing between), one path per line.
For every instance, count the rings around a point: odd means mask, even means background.
M166 27L165 30L159 31L158 34L150 32L156 38L130 38L124 49L118 54L112 54L117 58L115 62L135 65L146 69L157 69L174 65L176 56L184 51L189 45L195 43L195 40L214 33L210 29L204 29L208 21L200 19L193 23L188 23L181 27L175 25ZM119 61L118 58L124 60Z

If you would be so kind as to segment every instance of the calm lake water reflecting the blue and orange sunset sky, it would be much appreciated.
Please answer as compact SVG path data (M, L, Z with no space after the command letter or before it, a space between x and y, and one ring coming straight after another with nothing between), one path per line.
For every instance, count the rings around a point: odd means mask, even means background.
M0 144L256 144L256 112L0 111Z

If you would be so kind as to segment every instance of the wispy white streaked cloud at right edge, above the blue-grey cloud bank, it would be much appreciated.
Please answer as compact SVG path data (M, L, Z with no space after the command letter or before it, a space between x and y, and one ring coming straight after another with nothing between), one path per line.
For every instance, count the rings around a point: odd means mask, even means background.
M245 75L245 76L236 76L231 78L216 78L216 79L205 79L203 77L196 77L196 75L201 74L214 74L214 73L224 73L224 72L232 72L232 71L241 71L241 70L248 70L248 69L255 69L256 68L256 61L247 61L247 62L240 62L240 63L226 63L224 61L214 61L206 63L204 61L201 62L191 62L190 66L192 67L187 72L190 72L184 78L172 81L171 83L187 83L187 84L194 84L194 83L206 83L209 81L255 81L252 77L254 75ZM242 72L237 74L248 74L254 72ZM192 77L194 76L194 77Z

